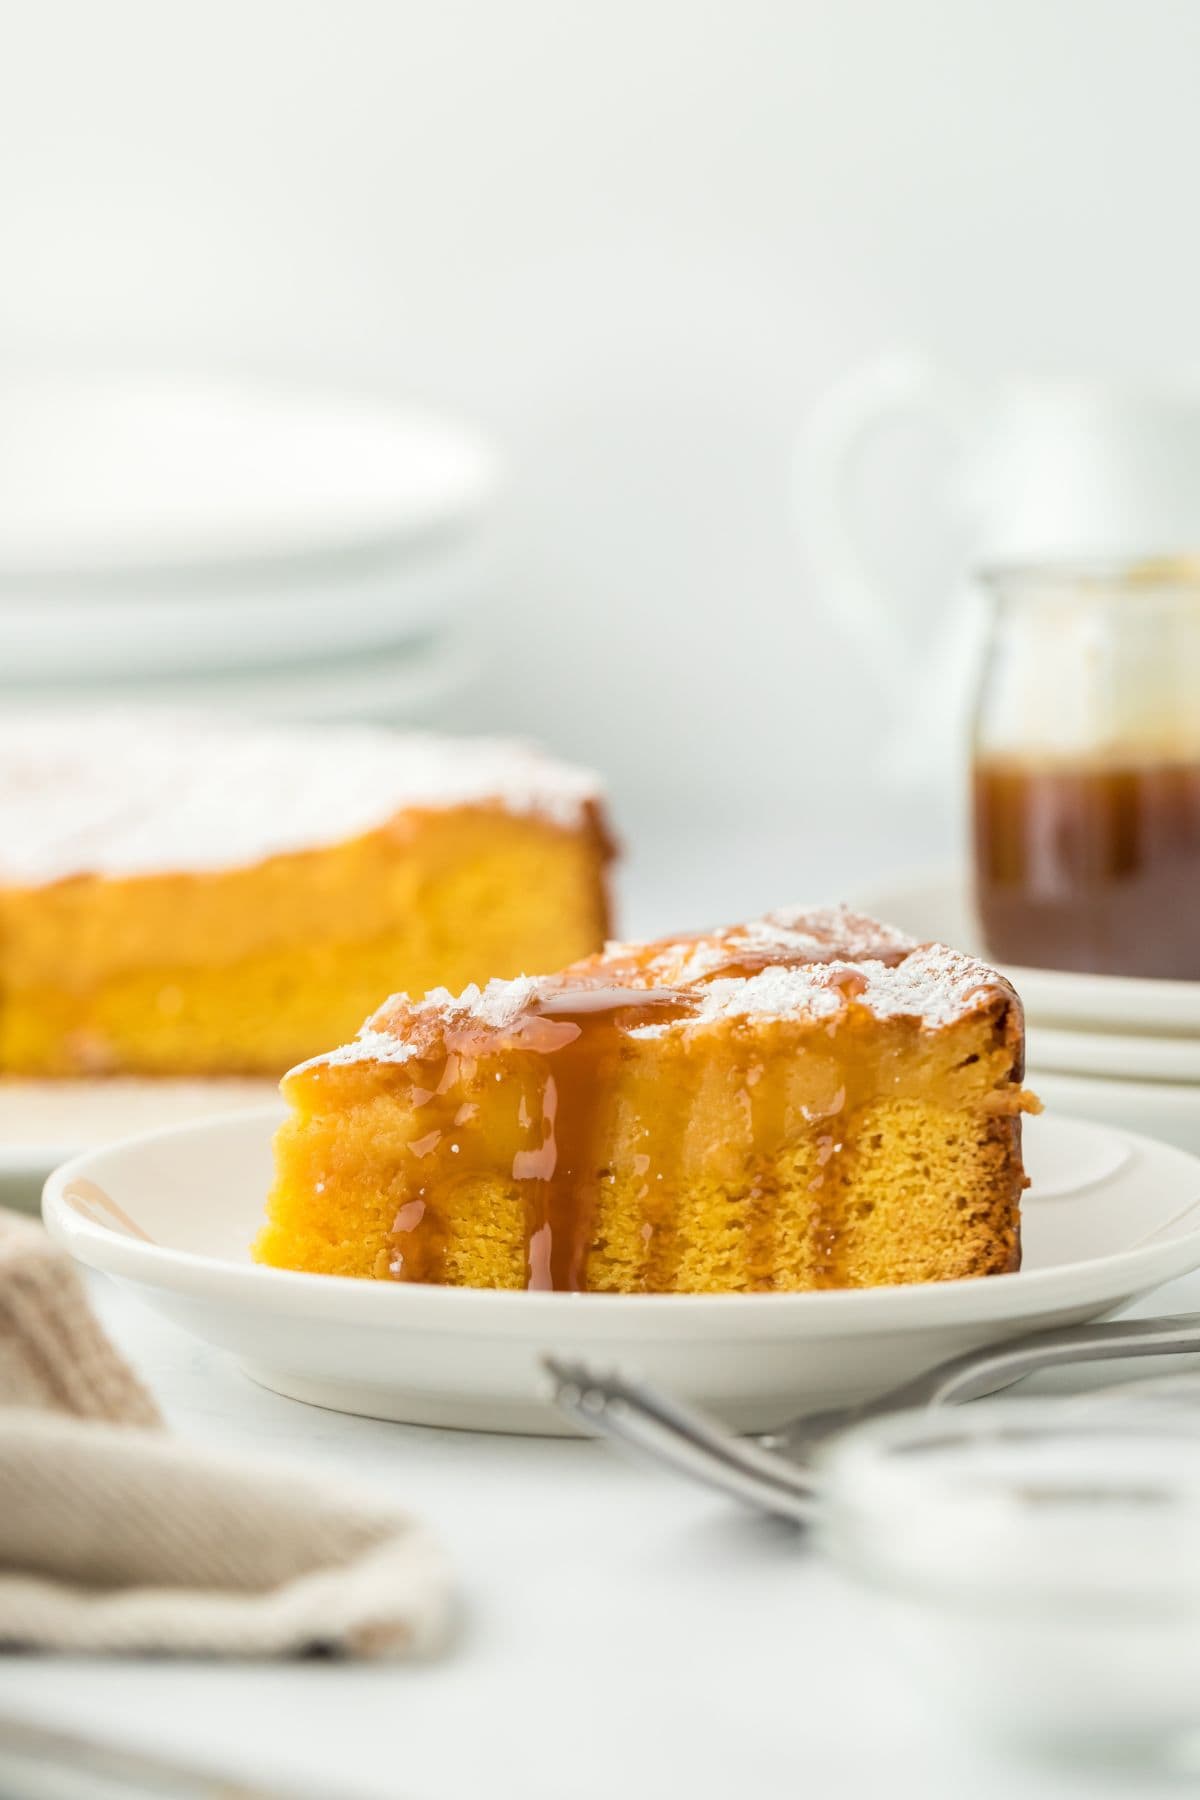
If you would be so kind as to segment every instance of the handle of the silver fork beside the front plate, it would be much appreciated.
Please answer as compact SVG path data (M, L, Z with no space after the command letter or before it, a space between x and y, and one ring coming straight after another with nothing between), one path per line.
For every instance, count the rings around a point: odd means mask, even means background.
M901 1406L959 1406L995 1388L1022 1381L1043 1368L1067 1363L1103 1363L1126 1355L1178 1355L1200 1352L1200 1312L1159 1319L1101 1319L1031 1332L1011 1345L990 1345L943 1363L932 1375L919 1375L907 1388L887 1395L887 1411Z

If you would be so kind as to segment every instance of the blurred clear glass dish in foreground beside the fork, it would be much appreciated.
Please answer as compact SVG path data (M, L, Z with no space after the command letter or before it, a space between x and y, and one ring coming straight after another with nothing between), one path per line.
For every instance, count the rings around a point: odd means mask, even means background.
M970 1735L1106 1762L1200 1728L1200 1415L900 1413L820 1467L828 1553Z

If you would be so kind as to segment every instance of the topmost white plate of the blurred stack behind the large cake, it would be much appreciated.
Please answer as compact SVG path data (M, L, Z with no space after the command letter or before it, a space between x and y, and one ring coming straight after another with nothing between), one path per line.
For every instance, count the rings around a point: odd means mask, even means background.
M473 517L495 475L475 432L374 398L184 371L0 371L5 587L416 544Z

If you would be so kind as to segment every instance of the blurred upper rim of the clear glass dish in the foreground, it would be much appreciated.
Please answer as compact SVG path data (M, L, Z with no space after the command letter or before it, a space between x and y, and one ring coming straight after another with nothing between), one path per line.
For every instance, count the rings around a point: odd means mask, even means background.
M1200 1609L1200 1433L1164 1399L1029 1397L891 1413L820 1456L819 1528L923 1602Z

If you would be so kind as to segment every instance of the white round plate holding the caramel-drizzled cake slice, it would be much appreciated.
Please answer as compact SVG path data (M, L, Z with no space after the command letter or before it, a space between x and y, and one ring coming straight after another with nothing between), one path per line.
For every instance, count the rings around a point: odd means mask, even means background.
M662 1382L747 1431L865 1399L975 1345L1096 1318L1200 1265L1200 1161L1067 1118L1027 1132L1020 1274L811 1294L540 1294L263 1269L281 1111L77 1157L49 1229L277 1393L376 1418L565 1433L540 1355Z

